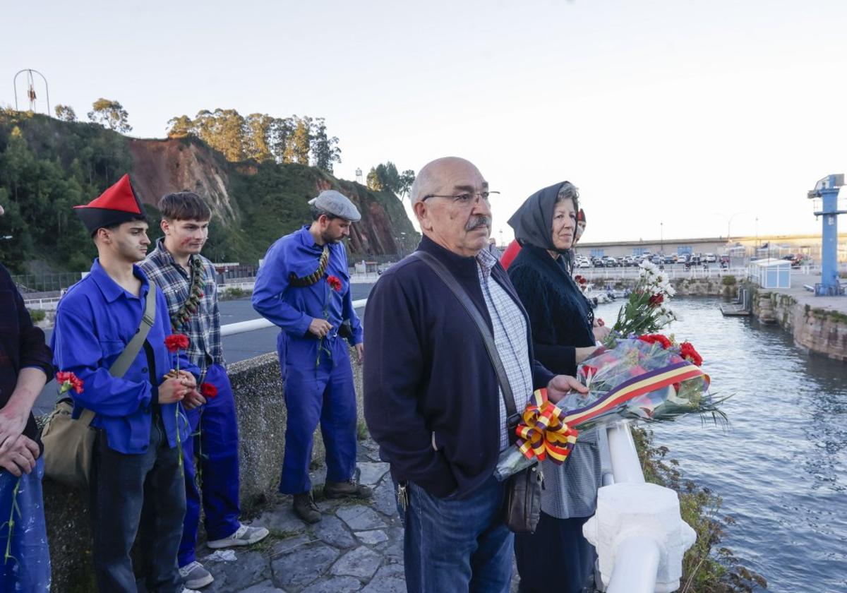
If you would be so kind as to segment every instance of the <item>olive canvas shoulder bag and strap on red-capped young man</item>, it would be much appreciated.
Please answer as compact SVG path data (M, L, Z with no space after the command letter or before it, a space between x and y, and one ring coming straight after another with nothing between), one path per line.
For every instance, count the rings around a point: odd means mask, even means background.
M141 346L147 340L150 328L156 323L156 286L150 283L144 313L136 335L124 348L119 357L108 369L113 377L123 377L130 365L141 352ZM91 420L94 413L84 409L80 418L71 418L74 403L70 397L56 402L53 412L47 417L42 429L44 443L44 474L64 485L75 488L87 488L91 477L91 455L94 451L94 437Z

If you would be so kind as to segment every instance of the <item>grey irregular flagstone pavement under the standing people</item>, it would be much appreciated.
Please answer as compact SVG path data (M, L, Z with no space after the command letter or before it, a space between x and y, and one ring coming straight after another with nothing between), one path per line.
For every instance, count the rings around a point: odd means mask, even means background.
M248 548L197 551L197 559L214 576L203 593L405 592L403 528L388 463L379 461L374 441L359 445L360 479L374 488L371 500L316 496L324 517L307 525L291 511L291 496L280 496L246 521L267 527L266 540ZM312 473L317 495L322 494L325 472L318 468Z

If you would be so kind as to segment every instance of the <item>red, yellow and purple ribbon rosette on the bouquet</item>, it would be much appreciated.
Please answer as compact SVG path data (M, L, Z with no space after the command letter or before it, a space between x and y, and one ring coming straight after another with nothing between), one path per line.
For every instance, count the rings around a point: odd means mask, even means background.
M528 459L548 456L562 463L573 450L579 432L565 423L565 413L547 399L547 390L535 390L516 429L518 450Z

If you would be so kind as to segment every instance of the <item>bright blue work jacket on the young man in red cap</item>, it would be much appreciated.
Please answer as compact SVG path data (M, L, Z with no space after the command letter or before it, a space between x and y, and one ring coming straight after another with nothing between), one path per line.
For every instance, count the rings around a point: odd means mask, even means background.
M73 417L83 408L95 413L91 426L106 431L108 446L121 453L143 453L150 442L153 398L158 385L176 364L176 354L168 352L164 339L170 335L168 303L155 285L150 285L141 268L132 267L141 280L139 296L131 295L112 280L98 259L91 274L71 286L56 311L51 346L58 370L70 371L83 381L82 393L69 391L74 400ZM130 343L141 324L147 291L156 291L156 322L147 335L156 363L156 385L150 382L147 354L142 347L123 377L108 369ZM180 369L199 376L200 369L180 353ZM177 410L179 409L179 412ZM180 438L188 438L188 421L180 403L161 405L162 420L170 446L176 446L177 413Z

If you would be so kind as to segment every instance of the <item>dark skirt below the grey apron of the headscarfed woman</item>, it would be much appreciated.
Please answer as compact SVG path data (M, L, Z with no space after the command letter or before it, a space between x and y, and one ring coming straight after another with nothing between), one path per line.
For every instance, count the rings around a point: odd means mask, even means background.
M556 591L593 591L591 575L597 557L582 535L588 517L560 519L541 513L534 534L515 535L515 559L521 577L519 593L550 590L550 567L556 567Z

